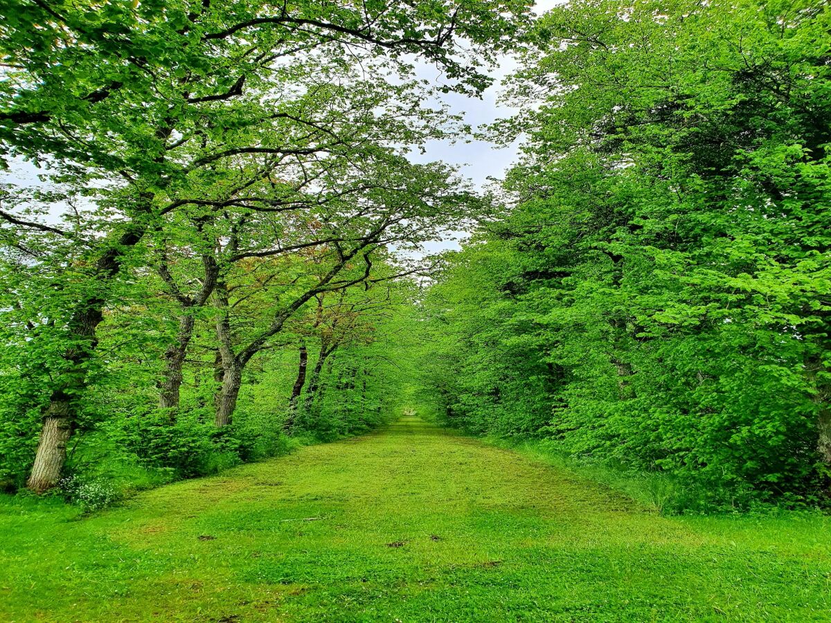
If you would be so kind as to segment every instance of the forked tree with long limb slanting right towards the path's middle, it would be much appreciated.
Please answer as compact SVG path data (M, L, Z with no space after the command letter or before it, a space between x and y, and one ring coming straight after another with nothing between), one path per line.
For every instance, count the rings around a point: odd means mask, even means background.
M326 213L311 223L318 237L316 243L306 247L312 266L302 269L288 282L265 280L269 287L282 289L272 295L278 302L270 309L269 321L248 336L234 335L232 310L237 303L230 298L229 276L220 278L214 296L223 365L222 389L217 399L218 426L231 422L245 366L270 346L273 338L307 302L324 292L371 282L373 264L386 256L389 246L417 247L435 238L440 230L458 226L481 209L482 202L461 187L445 167L410 164L391 153L383 156L374 161L352 163L351 172L342 169L339 184L343 184L347 173L352 174L360 183L360 193L332 199L326 205ZM259 224L267 223L264 220ZM268 243L268 237L252 230L244 239L242 236L229 238L229 253L237 258L276 258L281 249ZM243 250L246 244L253 246ZM415 267L407 272L418 270ZM243 300L249 297L240 293L234 296Z

